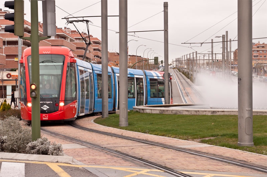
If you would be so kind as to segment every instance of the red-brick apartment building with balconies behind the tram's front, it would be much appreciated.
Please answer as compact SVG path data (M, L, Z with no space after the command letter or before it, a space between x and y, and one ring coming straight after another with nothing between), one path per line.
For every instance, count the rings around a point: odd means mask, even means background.
M10 98L11 91L16 89L18 84L18 36L13 33L6 33L4 27L13 25L14 22L5 20L4 15L9 11L0 9L0 98ZM42 24L39 23L39 36L43 36ZM30 37L31 23L24 20L24 37ZM90 40L89 40L90 37ZM21 53L31 47L29 40L22 39ZM86 50L86 43L90 45ZM90 42L89 42L90 41ZM65 46L70 48L74 57L85 61L101 63L101 40L86 33L79 33L69 28L57 28L56 35L46 40L41 40L39 46ZM4 91L3 91L4 90Z

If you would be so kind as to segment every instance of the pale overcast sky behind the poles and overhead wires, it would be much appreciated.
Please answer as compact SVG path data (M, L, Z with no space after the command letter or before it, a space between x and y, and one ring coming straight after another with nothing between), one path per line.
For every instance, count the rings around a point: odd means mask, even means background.
M169 5L169 62L195 51L211 51L211 44L182 43L221 41L222 38L215 36L222 36L225 31L228 31L228 39L238 39L237 0L128 0L128 31L163 30L163 2ZM30 2L24 0L24 3L25 20L30 22ZM42 3L38 4L39 21L42 22ZM62 19L70 14L74 17L101 15L101 0L55 0L55 4L57 27L75 30L74 25L67 25ZM252 6L252 38L265 38L253 42L267 43L267 2L252 0ZM108 0L108 15L119 15L119 0ZM90 35L101 40L101 18L85 19L93 23L89 25ZM87 32L85 24L77 23L77 26L80 31ZM108 49L119 52L119 34L115 33L119 31L119 17L108 17L108 29ZM145 58L147 55L164 56L163 31L128 34L128 41L138 40L128 43L129 55L136 55L137 47L146 45L138 48L137 55ZM221 43L214 43L214 53L221 53L220 47ZM237 42L232 42L232 51L236 48Z

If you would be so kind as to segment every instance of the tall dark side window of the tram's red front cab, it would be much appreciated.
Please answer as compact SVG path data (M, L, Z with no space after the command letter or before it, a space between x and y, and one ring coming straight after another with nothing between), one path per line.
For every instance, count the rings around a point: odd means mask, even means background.
M72 100L76 99L77 92L77 78L76 78L76 69L73 63L67 67L67 75L66 75L66 90L65 90L65 99Z

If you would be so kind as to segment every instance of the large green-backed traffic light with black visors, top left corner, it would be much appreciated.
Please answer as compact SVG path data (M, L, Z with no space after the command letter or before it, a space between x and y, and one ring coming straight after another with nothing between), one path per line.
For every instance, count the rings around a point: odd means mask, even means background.
M16 36L24 36L24 1L5 1L5 7L14 9L14 13L6 13L5 19L14 21L14 25L6 25L5 32L14 33Z

